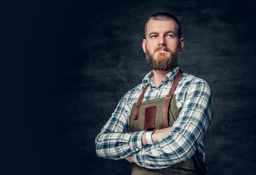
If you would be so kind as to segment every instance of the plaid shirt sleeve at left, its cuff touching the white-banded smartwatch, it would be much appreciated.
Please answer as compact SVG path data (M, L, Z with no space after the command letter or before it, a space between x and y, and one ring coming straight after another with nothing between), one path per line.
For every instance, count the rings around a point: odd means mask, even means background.
M95 139L96 153L99 157L124 159L143 148L141 137L144 131L128 132L128 111L131 109L126 103L128 95L129 92L121 98L112 116Z

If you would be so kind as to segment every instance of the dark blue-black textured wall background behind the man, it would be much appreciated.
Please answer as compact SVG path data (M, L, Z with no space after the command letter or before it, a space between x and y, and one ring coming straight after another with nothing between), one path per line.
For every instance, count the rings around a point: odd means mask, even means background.
M253 0L9 5L3 15L10 46L3 49L10 68L2 69L4 174L129 174L126 161L98 158L94 139L119 99L150 71L141 43L146 19L160 11L182 24L181 69L212 88L208 174L256 174Z

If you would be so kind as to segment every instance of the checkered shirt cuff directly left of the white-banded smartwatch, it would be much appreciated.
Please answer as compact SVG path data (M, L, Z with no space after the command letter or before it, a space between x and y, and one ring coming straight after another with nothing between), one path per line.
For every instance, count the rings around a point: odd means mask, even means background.
M144 132L145 131L134 132L130 136L129 147L130 147L130 150L132 151L132 153L136 153L143 148L141 138L142 138L142 134Z

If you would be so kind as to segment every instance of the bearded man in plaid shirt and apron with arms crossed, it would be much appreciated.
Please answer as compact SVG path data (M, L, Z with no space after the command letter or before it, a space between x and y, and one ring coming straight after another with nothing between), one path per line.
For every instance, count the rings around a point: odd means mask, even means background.
M211 89L180 70L177 18L150 16L142 48L153 70L119 101L95 140L97 155L126 159L132 175L206 174L202 141L213 117Z

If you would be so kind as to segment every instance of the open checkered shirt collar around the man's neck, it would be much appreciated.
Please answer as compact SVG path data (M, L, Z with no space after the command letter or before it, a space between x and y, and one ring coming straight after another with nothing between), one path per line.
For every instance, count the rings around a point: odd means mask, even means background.
M163 81L164 82L165 81L170 81L170 82L174 81L179 70L180 70L180 66L178 65L166 74L165 79ZM151 70L148 74L146 74L146 76L142 80L142 84L151 84L152 85L153 84L153 81L152 81L153 76L154 76L154 73L153 73L153 70Z

